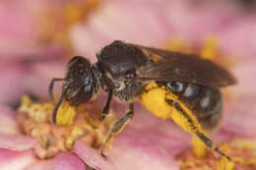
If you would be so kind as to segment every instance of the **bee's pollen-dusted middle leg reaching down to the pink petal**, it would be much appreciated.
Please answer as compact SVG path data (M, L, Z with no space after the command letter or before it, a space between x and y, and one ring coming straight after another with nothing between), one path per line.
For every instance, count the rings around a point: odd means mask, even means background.
M110 129L110 133L108 134L108 136L106 138L106 141L102 144L101 151L100 151L101 156L106 157L103 153L105 148L113 141L114 137L117 134L121 133L123 128L131 121L133 116L134 116L134 104L130 103L129 104L129 112L126 113L126 115L124 117L120 118L112 125L112 127Z

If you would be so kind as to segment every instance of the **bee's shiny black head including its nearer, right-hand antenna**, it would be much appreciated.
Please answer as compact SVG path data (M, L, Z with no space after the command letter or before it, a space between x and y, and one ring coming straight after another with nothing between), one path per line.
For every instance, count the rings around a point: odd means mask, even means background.
M96 91L96 79L92 65L84 57L76 56L69 61L63 81L62 94L53 111L54 122L56 122L57 111L63 99L70 105L78 106L88 102Z

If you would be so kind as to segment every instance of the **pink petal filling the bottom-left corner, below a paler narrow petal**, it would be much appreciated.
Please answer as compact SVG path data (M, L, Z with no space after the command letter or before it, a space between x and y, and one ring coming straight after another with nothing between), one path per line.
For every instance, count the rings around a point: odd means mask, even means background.
M24 170L34 161L36 158L32 150L14 151L0 148L1 170Z

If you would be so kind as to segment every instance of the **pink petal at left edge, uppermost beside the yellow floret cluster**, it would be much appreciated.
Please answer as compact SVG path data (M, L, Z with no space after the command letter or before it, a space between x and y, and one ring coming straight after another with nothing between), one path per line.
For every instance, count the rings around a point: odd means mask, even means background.
M0 104L0 125L0 134L16 135L20 133L15 120L15 113L2 104Z

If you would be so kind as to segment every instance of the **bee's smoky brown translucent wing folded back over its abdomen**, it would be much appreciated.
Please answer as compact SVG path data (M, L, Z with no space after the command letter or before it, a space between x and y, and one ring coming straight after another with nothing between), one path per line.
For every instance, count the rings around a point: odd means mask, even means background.
M236 83L223 67L196 55L137 45L154 63L138 70L138 81L176 81L221 87Z

